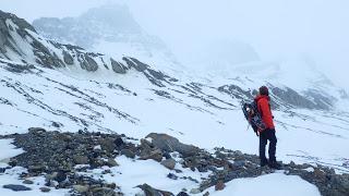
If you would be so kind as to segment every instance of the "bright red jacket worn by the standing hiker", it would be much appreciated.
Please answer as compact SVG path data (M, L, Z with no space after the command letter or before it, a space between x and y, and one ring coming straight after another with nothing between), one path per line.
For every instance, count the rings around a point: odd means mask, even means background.
M275 128L268 96L260 95L254 99L266 128Z

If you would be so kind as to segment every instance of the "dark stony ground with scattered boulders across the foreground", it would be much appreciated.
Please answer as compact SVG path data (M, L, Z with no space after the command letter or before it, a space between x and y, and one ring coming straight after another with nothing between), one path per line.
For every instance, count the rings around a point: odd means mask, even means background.
M110 168L119 167L116 158L125 156L135 161L155 160L169 169L167 177L178 180L181 170L176 164L198 172L209 172L207 179L192 179L197 188L170 193L159 191L144 182L140 188L145 195L188 195L204 194L212 186L224 189L225 183L240 177L256 177L275 172L268 167L260 168L258 157L225 148L216 148L214 154L192 145L180 143L166 134L152 133L135 144L136 139L118 134L100 132L60 133L33 127L26 134L12 134L1 138L13 138L17 148L24 154L10 159L11 167L23 167L27 172L21 174L23 184L5 187L27 191L25 184L32 183L28 177L45 175L46 184L43 192L51 188L71 189L71 195L122 195L115 183L107 183L103 177L91 177L82 174L88 170L103 169L103 173L111 173ZM172 158L172 152L179 157ZM11 168L2 169L7 172ZM287 175L299 175L316 185L324 196L346 196L349 194L349 175L336 174L333 169L323 166L285 164L282 172ZM190 177L190 176L189 176ZM207 194L206 194L207 195Z

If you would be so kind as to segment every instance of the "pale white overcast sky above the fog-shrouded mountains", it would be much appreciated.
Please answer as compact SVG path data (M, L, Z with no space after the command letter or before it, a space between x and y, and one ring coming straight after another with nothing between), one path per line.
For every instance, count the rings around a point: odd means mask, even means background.
M76 16L120 0L0 0L1 10L28 21ZM177 56L210 40L252 45L263 60L312 56L345 86L349 81L348 0L125 0L136 21ZM181 58L181 57L180 57ZM349 88L347 88L349 89Z

